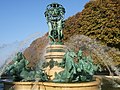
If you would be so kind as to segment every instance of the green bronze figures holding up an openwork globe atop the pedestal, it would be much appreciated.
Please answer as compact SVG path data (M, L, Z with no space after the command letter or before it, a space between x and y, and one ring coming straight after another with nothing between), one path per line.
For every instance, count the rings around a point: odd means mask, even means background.
M58 3L49 4L45 11L45 17L49 27L51 44L62 44L65 9Z

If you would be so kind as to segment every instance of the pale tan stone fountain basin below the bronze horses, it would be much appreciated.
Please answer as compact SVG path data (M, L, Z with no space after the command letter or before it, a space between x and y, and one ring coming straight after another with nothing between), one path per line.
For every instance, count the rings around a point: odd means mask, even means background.
M101 82L53 83L53 82L4 82L4 90L100 90Z

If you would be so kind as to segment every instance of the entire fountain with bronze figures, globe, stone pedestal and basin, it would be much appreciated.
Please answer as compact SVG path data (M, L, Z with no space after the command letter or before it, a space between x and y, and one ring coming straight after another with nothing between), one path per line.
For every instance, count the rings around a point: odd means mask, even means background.
M13 90L99 90L100 81L93 78L98 66L93 64L91 55L84 56L80 48L77 51L66 49L62 42L64 14L65 8L58 3L47 6L45 17L50 44L46 48L43 68L31 69L29 61L18 52L13 63L6 68L5 73L13 82L5 82L4 90L11 87Z

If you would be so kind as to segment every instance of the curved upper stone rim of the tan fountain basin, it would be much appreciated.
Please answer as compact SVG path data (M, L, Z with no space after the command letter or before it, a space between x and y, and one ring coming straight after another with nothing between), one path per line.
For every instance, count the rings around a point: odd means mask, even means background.
M82 82L82 83L54 83L54 82L4 82L4 84L15 84L15 85L45 85L45 86L53 86L53 87L89 87L100 85L100 79L96 78L95 81L90 82Z

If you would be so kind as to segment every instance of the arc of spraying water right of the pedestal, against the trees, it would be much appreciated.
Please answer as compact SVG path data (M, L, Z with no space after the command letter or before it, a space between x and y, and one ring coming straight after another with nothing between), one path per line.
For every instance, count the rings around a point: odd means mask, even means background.
M95 39L91 39L84 35L76 35L70 38L68 42L65 43L69 48L74 48L76 45L78 47L87 47L92 53L96 54L99 57L99 62L102 62L106 65L110 74L112 74L111 69L116 73L116 75L120 76L119 69L116 67L114 60L109 56L108 51L111 50L112 53L116 55L120 55L120 51L115 49L111 49L110 47L100 45ZM101 61L100 61L101 60Z

